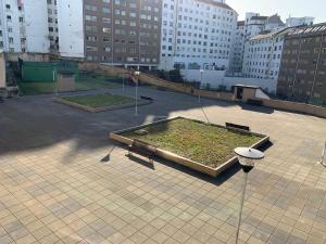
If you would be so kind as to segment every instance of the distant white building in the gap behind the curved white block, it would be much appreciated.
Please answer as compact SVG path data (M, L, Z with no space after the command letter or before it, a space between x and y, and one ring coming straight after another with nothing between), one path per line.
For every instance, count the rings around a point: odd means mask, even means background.
M231 56L231 65L228 75L242 75L244 43L250 38L263 31L279 30L283 28L285 28L285 24L277 14L272 16L261 16L259 13L246 13L246 20L238 22L237 25L235 52Z

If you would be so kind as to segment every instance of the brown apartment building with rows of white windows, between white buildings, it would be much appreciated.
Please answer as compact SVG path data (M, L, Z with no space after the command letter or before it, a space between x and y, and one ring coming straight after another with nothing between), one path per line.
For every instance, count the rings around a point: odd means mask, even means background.
M162 0L85 0L87 61L155 67Z

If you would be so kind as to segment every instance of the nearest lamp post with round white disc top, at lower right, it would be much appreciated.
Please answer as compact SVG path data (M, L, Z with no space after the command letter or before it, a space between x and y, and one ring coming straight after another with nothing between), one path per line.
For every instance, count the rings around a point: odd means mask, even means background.
M254 160L262 159L264 157L264 153L250 147L237 147L235 149L235 153L238 155L239 163L241 165L242 171L244 172L244 182L243 182L243 191L241 195L240 208L239 208L239 220L238 220L238 229L236 235L236 244L238 243L239 232L240 232L240 224L241 224L241 217L242 217L242 208L246 195L246 187L248 180L248 174L254 167Z

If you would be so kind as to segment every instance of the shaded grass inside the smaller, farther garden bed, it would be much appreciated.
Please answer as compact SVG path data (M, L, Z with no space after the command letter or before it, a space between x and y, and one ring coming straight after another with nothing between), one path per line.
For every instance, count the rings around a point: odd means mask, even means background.
M113 95L113 94L76 95L76 97L64 97L61 99L80 105L95 107L95 108L135 103L134 99L122 97L122 95Z

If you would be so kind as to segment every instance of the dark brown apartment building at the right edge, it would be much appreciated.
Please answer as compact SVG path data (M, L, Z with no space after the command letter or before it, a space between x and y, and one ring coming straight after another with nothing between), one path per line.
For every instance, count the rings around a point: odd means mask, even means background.
M277 94L326 105L326 24L291 28L288 33Z

